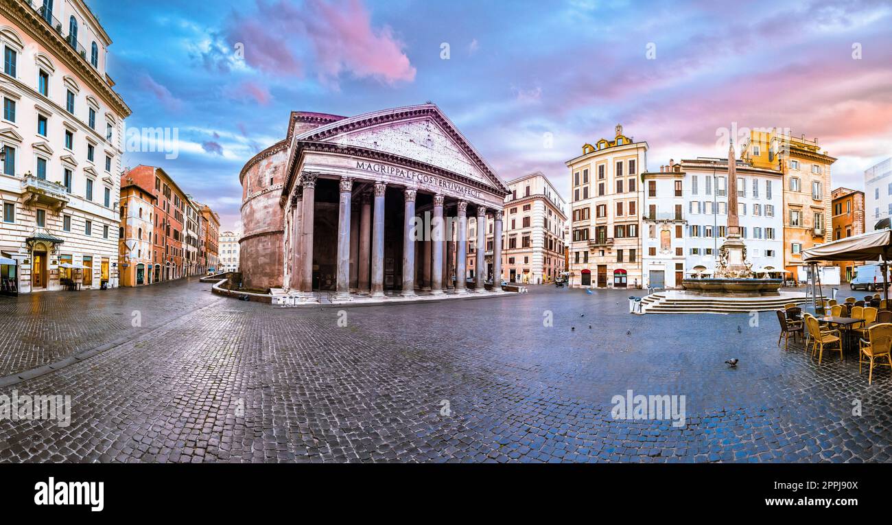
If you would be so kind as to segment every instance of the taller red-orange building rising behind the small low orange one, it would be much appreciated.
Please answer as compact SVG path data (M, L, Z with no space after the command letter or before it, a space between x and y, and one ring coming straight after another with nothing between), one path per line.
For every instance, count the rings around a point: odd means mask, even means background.
M186 194L161 168L139 165L125 174L140 187L151 187L155 201L153 220L152 282L184 277L184 221Z

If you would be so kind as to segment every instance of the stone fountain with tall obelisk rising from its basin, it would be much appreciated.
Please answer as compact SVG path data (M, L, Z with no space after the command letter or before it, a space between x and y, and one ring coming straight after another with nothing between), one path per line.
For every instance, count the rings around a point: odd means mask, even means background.
M719 248L711 279L682 279L686 291L704 296L778 296L782 279L758 279L747 261L747 245L740 240L737 204L737 161L734 143L728 150L728 233Z

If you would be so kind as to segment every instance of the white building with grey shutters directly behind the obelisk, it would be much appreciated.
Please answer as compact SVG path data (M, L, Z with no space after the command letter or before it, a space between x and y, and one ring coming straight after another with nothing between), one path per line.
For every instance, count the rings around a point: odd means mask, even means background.
M674 168L673 168L674 169ZM728 159L682 160L685 272L712 275L728 225ZM783 270L782 175L737 161L740 238L754 271Z

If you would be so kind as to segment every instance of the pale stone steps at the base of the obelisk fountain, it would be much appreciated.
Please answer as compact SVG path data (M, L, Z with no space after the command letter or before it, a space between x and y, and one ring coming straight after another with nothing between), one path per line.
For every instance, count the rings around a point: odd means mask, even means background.
M696 296L675 297L657 292L641 299L642 313L747 313L768 312L784 304L805 304L811 299L803 295L762 297Z

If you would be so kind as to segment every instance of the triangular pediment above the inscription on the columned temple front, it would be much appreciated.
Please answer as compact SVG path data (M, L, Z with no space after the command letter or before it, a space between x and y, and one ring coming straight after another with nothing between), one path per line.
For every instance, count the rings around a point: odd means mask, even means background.
M508 193L504 181L434 104L366 113L298 138L407 157Z

